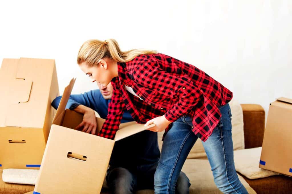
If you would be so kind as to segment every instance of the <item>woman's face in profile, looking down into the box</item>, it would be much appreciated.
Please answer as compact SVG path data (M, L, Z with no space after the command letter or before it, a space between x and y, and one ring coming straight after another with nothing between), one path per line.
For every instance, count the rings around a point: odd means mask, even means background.
M110 70L107 68L105 60L100 60L98 65L89 67L86 62L79 65L81 70L90 77L91 82L97 82L99 85L107 86L112 78L110 77Z

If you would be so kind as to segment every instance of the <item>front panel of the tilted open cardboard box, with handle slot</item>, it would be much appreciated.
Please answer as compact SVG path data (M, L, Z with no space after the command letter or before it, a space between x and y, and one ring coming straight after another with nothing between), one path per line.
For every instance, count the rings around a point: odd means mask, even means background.
M53 124L34 191L98 193L113 146L113 140ZM86 161L68 158L69 152Z

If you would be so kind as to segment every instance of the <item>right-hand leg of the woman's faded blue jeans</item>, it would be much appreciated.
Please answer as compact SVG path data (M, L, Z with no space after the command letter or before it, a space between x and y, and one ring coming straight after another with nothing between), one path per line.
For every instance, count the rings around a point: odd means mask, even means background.
M247 193L236 174L233 160L231 110L220 107L222 117L206 142L202 142L213 172L216 186L223 193Z

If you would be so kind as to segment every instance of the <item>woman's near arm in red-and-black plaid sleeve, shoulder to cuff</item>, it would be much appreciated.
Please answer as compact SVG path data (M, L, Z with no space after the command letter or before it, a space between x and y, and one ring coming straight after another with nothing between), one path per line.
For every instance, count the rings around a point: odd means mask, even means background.
M162 69L159 65L164 68ZM164 115L168 121L173 122L196 106L202 98L202 93L186 74L168 73L164 70L166 68L178 67L170 67L167 63L158 64L153 59L145 59L137 64L133 76L136 82L145 87L170 98L178 98L178 101Z

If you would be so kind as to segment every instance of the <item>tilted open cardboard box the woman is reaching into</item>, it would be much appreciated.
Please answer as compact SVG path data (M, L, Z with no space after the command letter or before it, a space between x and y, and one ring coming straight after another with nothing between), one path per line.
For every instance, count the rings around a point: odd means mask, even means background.
M65 88L53 119L34 193L100 193L115 141L151 128L135 121L122 123L110 140L74 128L83 115L66 109L75 79ZM97 119L97 133L105 119ZM135 145L133 145L135 146Z

